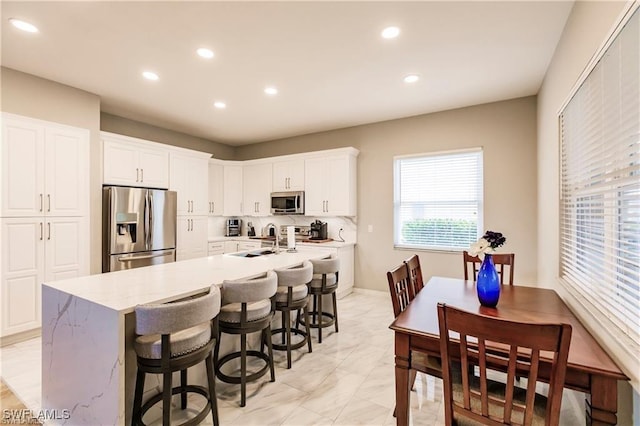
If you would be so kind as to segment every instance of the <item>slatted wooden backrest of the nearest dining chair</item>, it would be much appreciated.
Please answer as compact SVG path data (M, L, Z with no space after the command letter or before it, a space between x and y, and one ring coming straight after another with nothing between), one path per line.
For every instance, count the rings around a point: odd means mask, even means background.
M494 424L530 425L540 351L553 353L545 424L558 424L571 342L570 325L508 321L441 303L438 321L446 424L452 424L455 413L484 424L491 424L488 419L492 419L499 422ZM459 363L453 362L458 360ZM463 374L469 372L470 366L480 367L479 377ZM458 380L454 380L456 369ZM495 382L487 379L487 370L506 370L507 380L499 387L501 392L492 392L496 389ZM527 378L524 398L514 394L516 376ZM522 393L520 388L518 391Z

